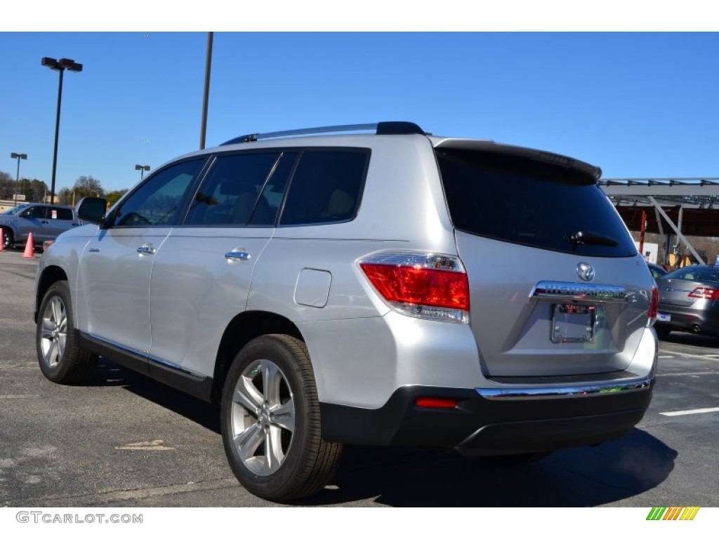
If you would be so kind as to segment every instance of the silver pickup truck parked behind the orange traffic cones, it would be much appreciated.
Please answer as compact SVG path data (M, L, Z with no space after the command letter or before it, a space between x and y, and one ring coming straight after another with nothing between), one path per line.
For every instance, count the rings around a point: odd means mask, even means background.
M32 232L32 243L41 246L45 241L54 240L73 226L80 226L73 208L56 204L21 204L0 213L0 229L3 232L3 247L24 245Z

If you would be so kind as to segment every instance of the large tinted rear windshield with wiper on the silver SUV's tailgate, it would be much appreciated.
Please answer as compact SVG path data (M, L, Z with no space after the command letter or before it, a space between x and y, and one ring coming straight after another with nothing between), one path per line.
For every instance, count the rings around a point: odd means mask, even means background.
M590 175L463 149L439 149L437 160L459 230L576 254L636 254L621 219Z

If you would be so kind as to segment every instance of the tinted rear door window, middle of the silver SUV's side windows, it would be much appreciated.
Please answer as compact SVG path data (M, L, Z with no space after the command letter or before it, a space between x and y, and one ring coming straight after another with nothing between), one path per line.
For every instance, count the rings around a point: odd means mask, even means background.
M272 223L272 211L259 195L279 157L278 152L218 157L195 195L185 224L246 225L252 216Z

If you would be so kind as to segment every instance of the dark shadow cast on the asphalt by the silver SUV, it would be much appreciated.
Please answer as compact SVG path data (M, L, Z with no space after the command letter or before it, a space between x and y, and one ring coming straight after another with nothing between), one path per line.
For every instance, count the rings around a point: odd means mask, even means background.
M134 395L220 433L219 407L100 359L91 385ZM319 494L286 505L372 500L392 507L594 507L664 482L677 451L643 430L600 446L557 451L527 466L503 466L452 450L345 446L339 469Z

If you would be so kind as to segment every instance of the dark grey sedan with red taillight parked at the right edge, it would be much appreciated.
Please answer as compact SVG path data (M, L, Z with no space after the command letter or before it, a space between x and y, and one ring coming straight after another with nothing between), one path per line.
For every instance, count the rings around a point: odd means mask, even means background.
M719 336L719 267L687 266L656 280L659 312L654 328Z

